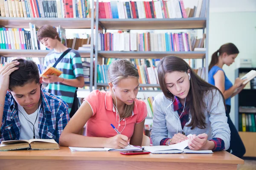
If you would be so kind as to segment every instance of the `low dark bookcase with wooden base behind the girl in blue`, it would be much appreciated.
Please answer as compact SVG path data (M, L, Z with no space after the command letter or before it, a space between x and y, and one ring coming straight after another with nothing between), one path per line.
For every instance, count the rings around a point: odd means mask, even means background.
M238 68L235 72L235 78L240 77L239 74L248 73L251 70L256 70L256 68ZM244 156L256 157L256 130L255 128L253 129L253 124L256 124L256 110L254 109L254 111L246 111L246 109L239 109L239 107L242 106L256 107L254 100L256 96L256 89L253 88L251 82L248 83L250 84L250 87L248 86L248 89L243 89L238 95L235 96L235 126L239 131L239 135L246 149ZM242 115L244 115L244 118ZM243 119L245 121L245 125L243 124ZM243 125L246 129L245 131L243 130Z

